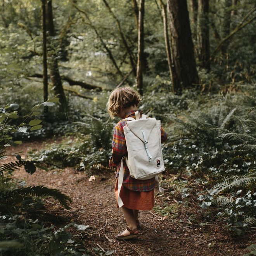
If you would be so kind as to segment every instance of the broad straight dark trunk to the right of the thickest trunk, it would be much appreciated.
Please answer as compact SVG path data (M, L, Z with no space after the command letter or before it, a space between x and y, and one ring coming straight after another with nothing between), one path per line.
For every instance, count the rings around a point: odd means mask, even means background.
M210 70L209 0L198 1L197 45L200 66Z

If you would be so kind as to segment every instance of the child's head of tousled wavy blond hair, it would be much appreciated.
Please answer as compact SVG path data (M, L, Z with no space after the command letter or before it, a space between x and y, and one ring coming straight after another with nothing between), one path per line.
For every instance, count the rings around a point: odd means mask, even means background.
M121 109L131 106L138 106L141 102L139 93L129 86L116 88L110 93L109 101L107 102L107 111L113 119L118 116Z

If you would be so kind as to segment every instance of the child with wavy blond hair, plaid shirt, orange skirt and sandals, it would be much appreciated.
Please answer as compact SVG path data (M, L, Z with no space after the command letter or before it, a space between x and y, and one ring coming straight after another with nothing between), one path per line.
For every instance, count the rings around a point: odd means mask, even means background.
M109 166L117 166L115 195L118 200L118 172L121 166L121 159L127 156L125 135L123 127L126 125L126 118L135 118L135 112L141 102L140 95L131 87L121 87L113 90L109 96L107 108L112 119L118 116L122 120L117 123L114 129L112 140L112 156L109 160ZM140 115L142 111L138 110ZM161 141L167 139L166 132L161 128ZM130 176L129 169L123 161L124 177L123 185L120 191L120 197L124 203L121 207L128 228L116 235L116 239L131 239L139 235L139 210L151 210L154 207L154 187L155 178L149 180L136 180ZM118 204L117 204L117 207Z

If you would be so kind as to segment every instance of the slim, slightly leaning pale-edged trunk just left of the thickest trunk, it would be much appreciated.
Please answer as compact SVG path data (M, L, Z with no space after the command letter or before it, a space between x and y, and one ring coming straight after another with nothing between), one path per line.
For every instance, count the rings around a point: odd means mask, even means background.
M170 46L170 40L169 40L169 35L168 35L167 6L166 6L166 4L163 3L163 0L159 0L159 2L160 2L160 5L162 7L165 50L166 50L166 55L167 55L168 67L169 67L169 71L170 71L170 77L171 77L172 84L173 84L174 81L173 81L172 74L174 73L174 71L172 71L173 61L172 61L172 56L171 56L171 46Z

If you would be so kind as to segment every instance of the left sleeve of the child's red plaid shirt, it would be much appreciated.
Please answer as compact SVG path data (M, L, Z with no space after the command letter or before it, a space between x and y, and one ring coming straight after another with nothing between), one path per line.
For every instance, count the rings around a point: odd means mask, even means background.
M109 167L118 165L121 162L122 157L127 155L123 126L124 124L122 122L119 122L115 126L112 140L112 156L109 160Z

